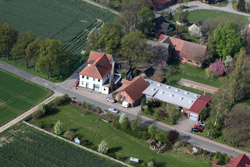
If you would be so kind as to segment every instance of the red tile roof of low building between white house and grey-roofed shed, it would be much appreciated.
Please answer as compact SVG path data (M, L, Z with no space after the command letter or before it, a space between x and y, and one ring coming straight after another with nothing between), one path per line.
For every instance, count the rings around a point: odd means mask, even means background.
M134 78L132 81L122 80L122 86L115 92L125 91L135 102L141 98L142 93L148 87L148 83L141 77Z

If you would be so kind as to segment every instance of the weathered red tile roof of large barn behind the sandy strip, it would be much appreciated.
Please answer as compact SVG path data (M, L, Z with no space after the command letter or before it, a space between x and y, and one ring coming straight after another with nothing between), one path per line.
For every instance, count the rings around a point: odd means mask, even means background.
M167 39L170 39L171 43L175 47L175 51L176 51L175 53L180 57L195 61L195 57L198 57L198 56L205 57L206 55L206 51L207 51L206 46L184 41L179 38L169 37L169 36L162 34L159 37L158 42L167 43Z

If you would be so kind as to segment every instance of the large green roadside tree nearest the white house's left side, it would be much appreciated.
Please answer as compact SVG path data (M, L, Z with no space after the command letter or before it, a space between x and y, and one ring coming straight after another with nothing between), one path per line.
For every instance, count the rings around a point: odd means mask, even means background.
M45 39L40 45L40 54L36 62L36 69L41 72L49 72L50 78L54 72L60 72L69 66L69 55L62 50L60 41Z

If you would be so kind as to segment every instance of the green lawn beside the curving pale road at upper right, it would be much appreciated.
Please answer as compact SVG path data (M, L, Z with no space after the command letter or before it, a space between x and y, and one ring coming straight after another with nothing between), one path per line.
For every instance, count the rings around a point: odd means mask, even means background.
M190 11L188 15L188 20L190 23L196 23L201 20L206 20L208 18L215 17L227 17L230 20L230 17L239 17L239 19L243 20L243 24L249 24L249 21L246 16L236 15L233 13L223 12L223 11L215 11L215 10L195 10Z

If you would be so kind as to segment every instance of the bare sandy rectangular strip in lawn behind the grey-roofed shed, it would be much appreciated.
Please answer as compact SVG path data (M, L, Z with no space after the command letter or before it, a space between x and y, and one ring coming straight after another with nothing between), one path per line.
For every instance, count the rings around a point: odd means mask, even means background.
M179 80L178 84L186 86L186 87L198 89L198 90L201 90L201 91L204 91L204 92L212 93L212 94L214 94L215 92L217 92L218 89L219 89L219 88L216 88L216 87L213 87L213 86L201 84L199 82L194 82L194 81L191 81L191 80L188 80L188 79L184 79L184 78L182 78L181 80Z

